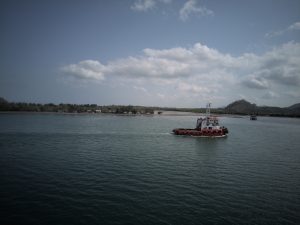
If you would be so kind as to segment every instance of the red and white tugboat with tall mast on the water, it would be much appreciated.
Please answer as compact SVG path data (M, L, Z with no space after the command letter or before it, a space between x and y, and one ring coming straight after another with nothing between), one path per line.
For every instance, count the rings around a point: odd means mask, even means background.
M193 137L226 137L228 129L219 125L219 120L216 116L210 115L211 103L206 105L206 115L204 118L197 119L196 127L190 128L176 128L173 130L175 135L185 135Z

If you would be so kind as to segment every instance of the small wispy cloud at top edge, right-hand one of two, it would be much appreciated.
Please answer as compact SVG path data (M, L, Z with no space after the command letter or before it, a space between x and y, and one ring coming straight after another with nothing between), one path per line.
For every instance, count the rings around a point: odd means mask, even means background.
M188 0L179 11L181 20L186 21L191 15L212 16L214 12L204 6L197 5L196 0Z

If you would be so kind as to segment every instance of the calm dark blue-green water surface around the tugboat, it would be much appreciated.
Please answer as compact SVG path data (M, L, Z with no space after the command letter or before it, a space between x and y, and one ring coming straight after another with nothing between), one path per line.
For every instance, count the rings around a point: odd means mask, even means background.
M300 224L300 120L0 114L0 224Z

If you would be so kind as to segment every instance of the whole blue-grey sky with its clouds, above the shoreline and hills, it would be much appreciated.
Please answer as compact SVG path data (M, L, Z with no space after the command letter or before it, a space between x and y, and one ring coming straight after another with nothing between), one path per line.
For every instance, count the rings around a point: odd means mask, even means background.
M8 101L300 102L299 0L2 0L0 29Z

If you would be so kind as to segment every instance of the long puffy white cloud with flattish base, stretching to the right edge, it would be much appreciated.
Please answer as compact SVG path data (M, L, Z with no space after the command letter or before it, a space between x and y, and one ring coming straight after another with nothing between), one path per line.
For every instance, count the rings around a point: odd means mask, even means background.
M103 80L106 76L144 79L240 78L250 88L266 89L270 82L300 85L300 44L290 42L259 56L233 57L200 43L191 48L145 49L139 57L128 57L107 64L84 60L66 65L62 71L82 79Z

